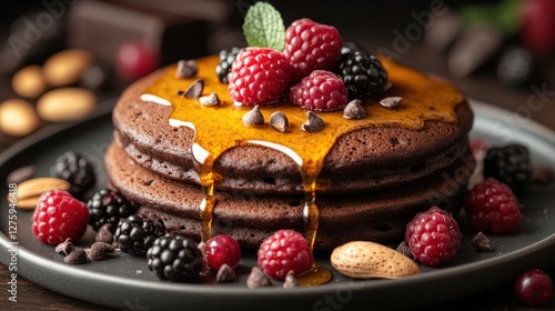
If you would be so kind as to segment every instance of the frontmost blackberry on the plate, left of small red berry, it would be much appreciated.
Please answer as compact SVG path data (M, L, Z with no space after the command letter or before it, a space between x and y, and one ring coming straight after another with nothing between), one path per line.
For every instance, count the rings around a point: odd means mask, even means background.
M196 281L203 265L202 251L184 235L158 238L147 252L149 269L161 280Z

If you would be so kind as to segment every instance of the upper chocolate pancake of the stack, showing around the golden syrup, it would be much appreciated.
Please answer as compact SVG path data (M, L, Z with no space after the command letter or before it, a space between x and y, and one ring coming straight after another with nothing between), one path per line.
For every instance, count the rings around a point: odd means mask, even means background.
M403 81L402 74L391 72L398 66L387 68L387 64L384 63L384 67L390 77L394 77L390 79L393 87L367 99L364 104L376 104L381 98L407 93L401 88L417 88L418 83L408 83L410 81ZM173 128L169 124L171 107L140 99L144 90L155 83L167 70L170 69L150 74L125 90L113 110L114 138L129 156L145 168L171 179L199 183L191 152L195 132L185 127ZM426 120L420 129L373 126L345 133L336 139L324 159L319 175L319 191L345 193L397 187L437 172L464 157L468 148L467 132L473 120L464 97L447 82L415 73L412 69L402 70L413 73L407 79L413 79L416 74L418 79L433 80L441 88L446 88L448 91L444 93L450 98L445 100L460 99L454 109L456 122ZM411 92L417 93L418 90ZM406 98L404 100L408 101ZM325 117L325 113L322 112L321 116ZM303 191L297 163L285 153L266 147L231 148L215 160L214 172L224 177L216 184L220 190L258 193Z

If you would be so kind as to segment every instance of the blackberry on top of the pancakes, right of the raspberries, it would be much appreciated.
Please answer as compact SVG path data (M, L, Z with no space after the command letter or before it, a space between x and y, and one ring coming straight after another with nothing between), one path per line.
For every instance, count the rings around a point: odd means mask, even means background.
M382 62L354 43L343 46L337 74L351 100L383 91L387 83L387 71Z

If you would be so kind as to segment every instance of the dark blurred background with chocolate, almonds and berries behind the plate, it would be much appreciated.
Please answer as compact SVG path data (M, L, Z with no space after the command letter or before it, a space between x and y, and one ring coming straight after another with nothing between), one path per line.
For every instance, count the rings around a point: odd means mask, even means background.
M110 109L129 83L157 68L245 46L241 26L253 2L10 3L0 10L0 151L52 123ZM285 27L304 17L332 24L344 41L555 129L555 1L270 2Z

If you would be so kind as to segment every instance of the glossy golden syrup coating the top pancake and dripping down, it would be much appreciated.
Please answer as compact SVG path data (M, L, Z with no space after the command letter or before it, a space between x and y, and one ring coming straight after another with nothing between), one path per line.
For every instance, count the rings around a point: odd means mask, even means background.
M213 164L222 153L233 147L263 144L286 153L299 164L305 193L303 210L305 237L312 250L320 218L316 193L325 188L325 182L319 180L319 174L325 156L337 138L367 127L402 127L417 130L426 120L456 122L454 109L464 98L455 87L387 59L383 59L382 63L389 72L389 81L393 87L363 103L367 118L346 120L342 111L319 112L325 127L316 133L301 130L301 126L306 120L306 111L290 102L262 106L260 111L266 123L261 127L244 127L242 117L251 108L233 104L228 92L228 84L221 83L214 72L218 56L198 60L199 72L189 79L175 79L176 66L171 66L161 79L144 90L143 94L171 102L173 110L170 114L170 122L174 121L173 126L184 124L195 131L194 143L201 152L195 152L193 147L193 161L205 194L200 204L202 242L206 242L211 237L212 214L216 205L214 187L223 178L213 170ZM204 107L199 103L198 99L178 96L178 90L186 90L199 77L204 80L202 96L216 92L222 102L221 106ZM396 109L381 107L379 100L389 96L402 97L401 106ZM274 111L281 111L289 118L290 132L278 132L268 124L270 114ZM322 267L314 265L310 273L303 275L303 279L307 281L302 281L302 283L316 284L319 281L315 280L319 278L321 280L331 278L330 271L324 270ZM326 281L329 279L320 282Z

